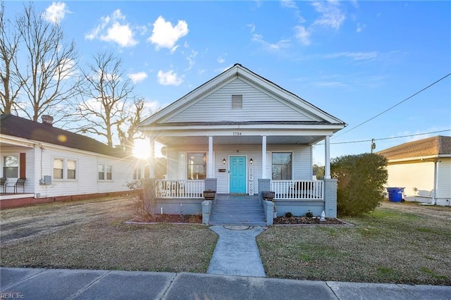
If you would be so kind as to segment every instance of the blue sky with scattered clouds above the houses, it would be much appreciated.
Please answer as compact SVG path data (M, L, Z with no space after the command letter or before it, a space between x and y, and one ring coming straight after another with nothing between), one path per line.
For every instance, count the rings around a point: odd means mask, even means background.
M6 14L23 3L7 1ZM81 63L112 51L149 107L162 108L235 63L345 121L331 157L451 129L450 1L37 1ZM323 164L323 148L314 161Z

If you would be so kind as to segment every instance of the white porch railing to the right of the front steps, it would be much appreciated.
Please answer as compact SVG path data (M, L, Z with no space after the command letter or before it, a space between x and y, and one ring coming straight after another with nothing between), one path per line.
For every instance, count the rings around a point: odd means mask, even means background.
M271 180L274 199L323 200L322 180Z

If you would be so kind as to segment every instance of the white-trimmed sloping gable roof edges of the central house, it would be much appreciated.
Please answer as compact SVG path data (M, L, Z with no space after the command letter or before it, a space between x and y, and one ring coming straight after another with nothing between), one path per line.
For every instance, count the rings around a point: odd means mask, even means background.
M228 70L225 70L223 73L217 75L208 82L192 90L192 92L189 92L188 94L181 97L177 101L173 102L169 106L166 106L166 108L163 108L158 113L155 113L146 120L142 121L142 123L140 123L138 128L140 128L140 130L143 130L145 129L145 127L149 126L154 127L157 125L169 124L166 122L169 115L173 115L178 111L186 109L187 107L194 104L195 101L197 101L199 98L211 94L219 87L226 85L228 82L230 82L231 80L235 80L236 78L240 78L242 80L245 80L246 82L252 82L252 85L255 85L259 87L259 89L261 90L264 90L268 93L278 96L279 99L283 99L283 101L286 101L290 105L297 107L299 111L306 111L308 113L311 113L312 115L316 115L318 119L321 119L321 121L319 121L317 124L326 123L345 126L345 123L342 120L335 118L333 115L330 115L325 111L322 111L320 108L317 108L313 104L310 104L304 99L301 99L299 96L296 96L291 92L288 92L286 89L279 87L273 82L266 80L264 77L261 77L260 75L236 63L235 65L233 65L233 67L229 68ZM218 122L219 123L217 123L217 125L221 125L220 123L223 123L224 120ZM246 120L243 120L242 123L246 123ZM179 125L190 125L190 124L183 123ZM216 125L216 123L211 125Z

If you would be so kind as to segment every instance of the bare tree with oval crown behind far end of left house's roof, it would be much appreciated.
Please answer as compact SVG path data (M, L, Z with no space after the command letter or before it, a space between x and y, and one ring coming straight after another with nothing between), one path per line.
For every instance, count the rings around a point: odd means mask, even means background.
M130 78L124 77L121 59L112 54L97 54L94 64L82 73L85 85L80 86L81 101L75 115L81 125L79 131L104 137L108 146L113 147L116 129L130 120L125 108L134 99L134 86ZM138 113L142 111L140 101L135 105ZM121 139L127 136L123 131L121 135Z

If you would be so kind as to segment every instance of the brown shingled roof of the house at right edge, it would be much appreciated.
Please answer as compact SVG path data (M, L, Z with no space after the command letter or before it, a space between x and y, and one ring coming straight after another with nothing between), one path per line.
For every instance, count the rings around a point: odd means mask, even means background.
M421 158L425 156L451 155L451 137L438 135L419 139L414 142L407 142L394 146L378 154L385 156L389 161L402 158Z

